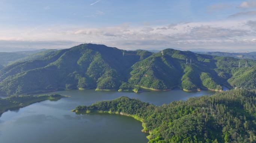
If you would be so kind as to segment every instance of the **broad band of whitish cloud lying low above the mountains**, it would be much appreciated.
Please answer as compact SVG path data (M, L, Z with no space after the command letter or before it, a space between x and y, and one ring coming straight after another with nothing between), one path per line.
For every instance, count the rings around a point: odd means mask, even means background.
M123 49L138 48L255 48L255 21L211 21L172 23L155 26L129 26L127 24L89 28L77 25L37 26L36 28L0 28L0 40L5 41L93 41ZM31 30L32 29L32 30ZM51 29L51 30L49 30ZM245 40L247 39L247 40ZM56 42L58 44L58 42ZM71 42L72 44L72 42ZM8 46L11 45L11 42ZM28 45L21 42L22 47ZM20 45L20 46L21 46ZM56 47L69 48L70 44ZM76 45L76 42L73 42ZM4 46L2 44L1 46ZM48 45L45 45L47 48ZM49 46L50 47L50 46ZM51 46L53 47L53 46Z

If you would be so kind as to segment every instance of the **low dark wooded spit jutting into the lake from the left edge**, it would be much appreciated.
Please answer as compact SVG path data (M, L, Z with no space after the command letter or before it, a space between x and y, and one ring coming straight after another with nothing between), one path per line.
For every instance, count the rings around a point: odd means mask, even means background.
M0 98L0 115L3 114L7 110L11 109L19 109L30 104L45 101L45 100L52 100L56 101L63 97L59 94L49 94L49 95L11 95L7 96L6 98Z

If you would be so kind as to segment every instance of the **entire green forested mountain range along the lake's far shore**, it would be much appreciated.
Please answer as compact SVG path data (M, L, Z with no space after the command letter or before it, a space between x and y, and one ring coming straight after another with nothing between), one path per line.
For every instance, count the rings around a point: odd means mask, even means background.
M0 92L11 95L64 89L137 91L175 87L222 90L222 85L255 89L255 68L254 60L190 51L166 49L162 55L81 44L10 64L0 70Z

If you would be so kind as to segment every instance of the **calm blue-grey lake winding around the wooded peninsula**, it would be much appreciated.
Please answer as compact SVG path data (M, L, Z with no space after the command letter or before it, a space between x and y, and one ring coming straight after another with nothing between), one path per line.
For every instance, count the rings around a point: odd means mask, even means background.
M76 115L71 109L120 96L162 105L193 96L214 94L212 91L183 92L180 89L142 93L94 90L52 93L71 97L4 112L0 117L0 143L147 143L147 134L141 132L140 121L107 113Z

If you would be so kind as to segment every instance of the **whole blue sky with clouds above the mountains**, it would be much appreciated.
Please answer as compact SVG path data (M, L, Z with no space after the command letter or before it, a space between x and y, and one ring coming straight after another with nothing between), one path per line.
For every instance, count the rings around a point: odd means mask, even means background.
M0 0L0 51L256 51L256 0Z

